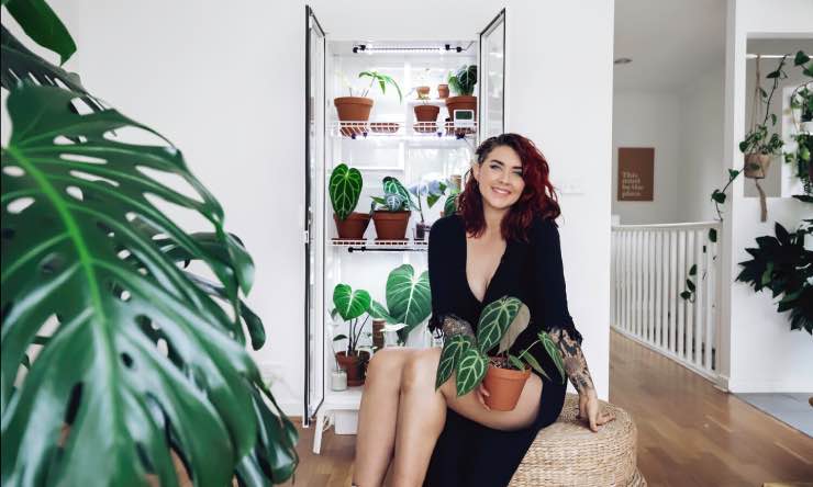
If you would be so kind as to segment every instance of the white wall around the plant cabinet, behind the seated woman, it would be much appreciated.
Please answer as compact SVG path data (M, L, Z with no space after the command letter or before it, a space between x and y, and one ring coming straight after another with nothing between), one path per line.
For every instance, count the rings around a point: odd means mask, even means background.
M490 0L467 4L463 14L457 4L428 0L312 5L331 38L358 39L476 38L508 8L508 126L544 150L554 183L575 181L583 190L561 197L563 253L570 313L606 399L612 2ZM304 3L55 0L53 7L77 41L68 67L93 93L176 143L223 203L227 229L244 239L257 267L248 302L266 324L268 344L256 356L279 376L274 393L286 412L301 415ZM590 63L575 53L590 53ZM571 128L584 116L565 92L583 93L581 103L591 107L589 144Z

